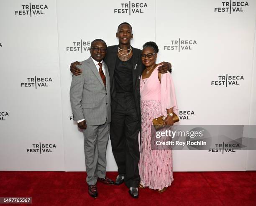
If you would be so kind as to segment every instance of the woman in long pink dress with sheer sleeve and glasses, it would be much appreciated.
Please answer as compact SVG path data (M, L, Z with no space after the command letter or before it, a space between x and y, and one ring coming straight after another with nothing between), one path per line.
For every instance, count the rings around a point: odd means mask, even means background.
M172 184L172 150L151 150L152 120L166 116L164 125L173 125L173 113L178 114L171 74L158 73L156 43L143 45L141 61L146 66L140 80L141 94L141 157L139 188L149 187L164 192Z

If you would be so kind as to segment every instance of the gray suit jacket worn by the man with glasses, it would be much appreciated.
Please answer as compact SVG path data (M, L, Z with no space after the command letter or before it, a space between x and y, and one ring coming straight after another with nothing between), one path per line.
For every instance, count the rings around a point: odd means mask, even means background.
M106 76L105 89L92 58L81 63L82 65L77 67L82 69L82 75L73 75L70 87L74 121L85 119L87 125L102 125L106 119L111 122L110 77L107 64L103 61Z

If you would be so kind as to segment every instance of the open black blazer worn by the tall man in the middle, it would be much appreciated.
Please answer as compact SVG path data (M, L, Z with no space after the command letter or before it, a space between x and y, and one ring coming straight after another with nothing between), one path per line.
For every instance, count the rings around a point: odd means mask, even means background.
M138 120L141 121L141 106L140 106L140 77L145 66L141 63L141 49L133 48L133 97L135 100L136 111L138 115ZM108 72L110 76L110 90L111 90L111 109L112 112L115 111L117 107L115 81L113 81L115 72L115 62L118 53L118 45L108 46L107 53L104 58L105 63L108 65Z

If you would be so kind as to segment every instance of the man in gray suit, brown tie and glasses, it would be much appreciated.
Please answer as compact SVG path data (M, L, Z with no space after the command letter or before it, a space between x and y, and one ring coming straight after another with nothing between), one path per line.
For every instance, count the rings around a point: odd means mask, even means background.
M79 65L83 73L72 77L70 101L74 121L84 129L84 154L88 193L97 197L97 180L114 182L106 177L106 149L111 122L110 77L103 61L107 45L102 39L92 41L91 56Z

